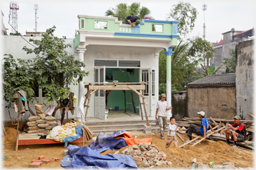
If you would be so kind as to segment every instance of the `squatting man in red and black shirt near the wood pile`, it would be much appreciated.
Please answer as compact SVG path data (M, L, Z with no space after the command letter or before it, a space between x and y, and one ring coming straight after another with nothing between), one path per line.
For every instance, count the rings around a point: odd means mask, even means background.
M242 141L245 141L246 139L246 129L245 129L245 126L240 123L240 120L241 118L239 116L235 116L234 118L235 124L233 125L229 124L227 128L221 131L221 134L223 133L223 131L225 131L227 143L229 145L230 145L229 136L231 136L231 140L235 141L235 145L233 147L237 147L237 141L242 142ZM229 129L232 129L233 131L231 132L229 131Z

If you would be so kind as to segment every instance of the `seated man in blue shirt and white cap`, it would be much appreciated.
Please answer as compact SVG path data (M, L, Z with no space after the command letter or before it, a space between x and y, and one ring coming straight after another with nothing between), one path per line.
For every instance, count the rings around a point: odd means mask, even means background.
M199 118L201 119L201 127L197 128L197 126L195 126L195 124L190 124L189 125L189 128L186 131L187 136L189 137L188 141L191 141L192 133L195 133L197 135L203 135L203 137L205 137L205 139L207 139L206 133L207 133L209 128L214 133L216 132L211 127L211 124L209 124L209 121L207 120L207 118L205 118L205 112L201 111L201 112L197 112L197 114L199 114Z

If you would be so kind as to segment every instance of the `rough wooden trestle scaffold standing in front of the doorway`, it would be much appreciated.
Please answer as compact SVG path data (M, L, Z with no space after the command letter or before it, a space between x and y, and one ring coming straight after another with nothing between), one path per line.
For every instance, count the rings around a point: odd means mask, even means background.
M85 112L85 120L87 118L88 110L89 110L89 104L91 101L91 96L97 91L97 90L122 90L125 94L125 90L131 90L132 92L135 92L138 94L139 98L139 105L141 107L141 120L143 120L143 111L142 111L142 104L145 112L145 117L147 120L147 125L149 126L149 120L147 118L147 110L145 107L145 96L144 96L144 90L146 82L112 82L112 83L105 83L105 82L84 82L85 88L87 88L87 94L85 94L85 102L83 104L84 108L86 108ZM142 92L140 92L140 90ZM141 103L142 98L142 103ZM87 101L88 100L88 101ZM126 102L125 98L125 112L126 112L126 104L130 104ZM133 103L133 94L132 94L132 103ZM133 108L135 109L134 105Z

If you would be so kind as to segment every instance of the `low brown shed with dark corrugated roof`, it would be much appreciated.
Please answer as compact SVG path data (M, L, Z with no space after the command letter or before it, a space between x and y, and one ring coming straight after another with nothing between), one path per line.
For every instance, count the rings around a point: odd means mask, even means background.
M187 116L233 120L236 115L235 73L214 74L187 85Z

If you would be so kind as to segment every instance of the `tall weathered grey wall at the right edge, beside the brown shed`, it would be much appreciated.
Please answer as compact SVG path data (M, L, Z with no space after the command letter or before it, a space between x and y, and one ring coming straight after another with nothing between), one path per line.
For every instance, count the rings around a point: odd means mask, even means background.
M254 40L239 42L235 49L237 115L244 120L253 120L247 113L255 113L253 112Z

